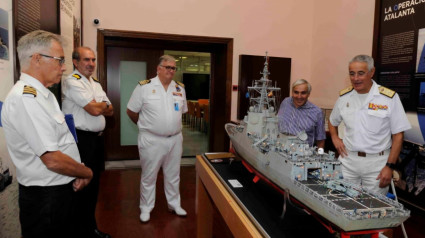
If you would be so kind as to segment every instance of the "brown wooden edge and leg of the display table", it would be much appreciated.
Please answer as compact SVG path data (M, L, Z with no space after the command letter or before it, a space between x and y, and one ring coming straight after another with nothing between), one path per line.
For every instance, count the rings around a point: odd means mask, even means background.
M217 157L229 153L217 154ZM212 237L213 206L218 209L234 237L262 237L201 155L196 156L197 237Z

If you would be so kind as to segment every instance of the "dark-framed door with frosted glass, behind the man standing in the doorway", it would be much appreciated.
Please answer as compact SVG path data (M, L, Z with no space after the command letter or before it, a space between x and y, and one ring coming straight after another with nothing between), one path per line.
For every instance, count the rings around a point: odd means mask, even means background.
M162 54L162 50L156 49L106 48L107 94L114 106L114 115L107 118L106 122L105 160L139 158L137 149L138 129L129 120L125 111L127 110L128 99L137 86L137 81L156 76L158 59ZM140 76L138 72L141 72Z

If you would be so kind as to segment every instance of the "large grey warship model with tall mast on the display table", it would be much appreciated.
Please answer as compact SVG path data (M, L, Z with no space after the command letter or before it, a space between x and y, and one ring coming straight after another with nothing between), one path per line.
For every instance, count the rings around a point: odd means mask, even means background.
M316 151L306 142L305 133L280 133L276 115L280 88L268 79L267 52L261 74L261 79L248 87L248 115L239 125L225 125L239 157L343 231L396 227L410 216L402 204L343 180L335 153Z

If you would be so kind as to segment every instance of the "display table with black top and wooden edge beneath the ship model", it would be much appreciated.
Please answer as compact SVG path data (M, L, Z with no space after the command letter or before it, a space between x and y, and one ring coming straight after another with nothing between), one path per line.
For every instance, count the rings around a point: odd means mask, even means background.
M212 237L212 204L234 237L333 237L297 208L287 206L282 219L283 196L261 180L254 183L254 175L231 157L207 153L196 158L197 237Z

